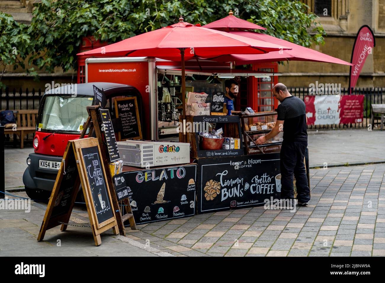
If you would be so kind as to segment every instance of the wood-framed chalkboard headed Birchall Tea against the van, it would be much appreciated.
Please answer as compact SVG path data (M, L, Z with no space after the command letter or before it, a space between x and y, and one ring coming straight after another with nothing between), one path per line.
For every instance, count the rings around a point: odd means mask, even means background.
M141 121L136 97L123 97L115 99L115 113L122 124L119 132L119 141L126 139L142 139Z

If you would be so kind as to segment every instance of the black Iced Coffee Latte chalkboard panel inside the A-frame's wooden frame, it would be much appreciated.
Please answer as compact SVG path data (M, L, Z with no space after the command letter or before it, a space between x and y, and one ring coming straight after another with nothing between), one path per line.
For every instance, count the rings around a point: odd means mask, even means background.
M97 146L82 148L82 158L98 223L114 217Z

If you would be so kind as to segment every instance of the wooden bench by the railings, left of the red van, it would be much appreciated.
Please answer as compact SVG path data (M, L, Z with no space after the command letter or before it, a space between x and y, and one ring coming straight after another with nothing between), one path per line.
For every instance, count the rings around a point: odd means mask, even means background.
M36 132L37 109L13 110L16 127L5 129L4 134L16 134L20 137L20 148L24 148L24 138L29 133Z

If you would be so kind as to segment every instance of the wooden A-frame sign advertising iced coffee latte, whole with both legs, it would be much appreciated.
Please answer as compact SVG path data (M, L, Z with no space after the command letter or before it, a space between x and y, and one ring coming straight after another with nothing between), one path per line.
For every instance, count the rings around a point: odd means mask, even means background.
M68 142L45 211L38 241L44 238L45 231L50 228L61 224L61 231L67 229L80 183L95 245L99 246L102 243L100 233L108 229L112 228L115 235L119 234L101 156L99 141L94 137Z

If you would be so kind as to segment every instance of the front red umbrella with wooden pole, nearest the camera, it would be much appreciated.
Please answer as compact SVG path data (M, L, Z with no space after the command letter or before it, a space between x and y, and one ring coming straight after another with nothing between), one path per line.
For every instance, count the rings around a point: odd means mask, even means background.
M147 56L174 61L181 60L183 117L185 117L184 60L198 57L217 57L224 54L265 54L282 48L288 49L281 45L204 28L199 24L192 25L183 22L183 18L180 17L179 23L174 25L77 55Z

